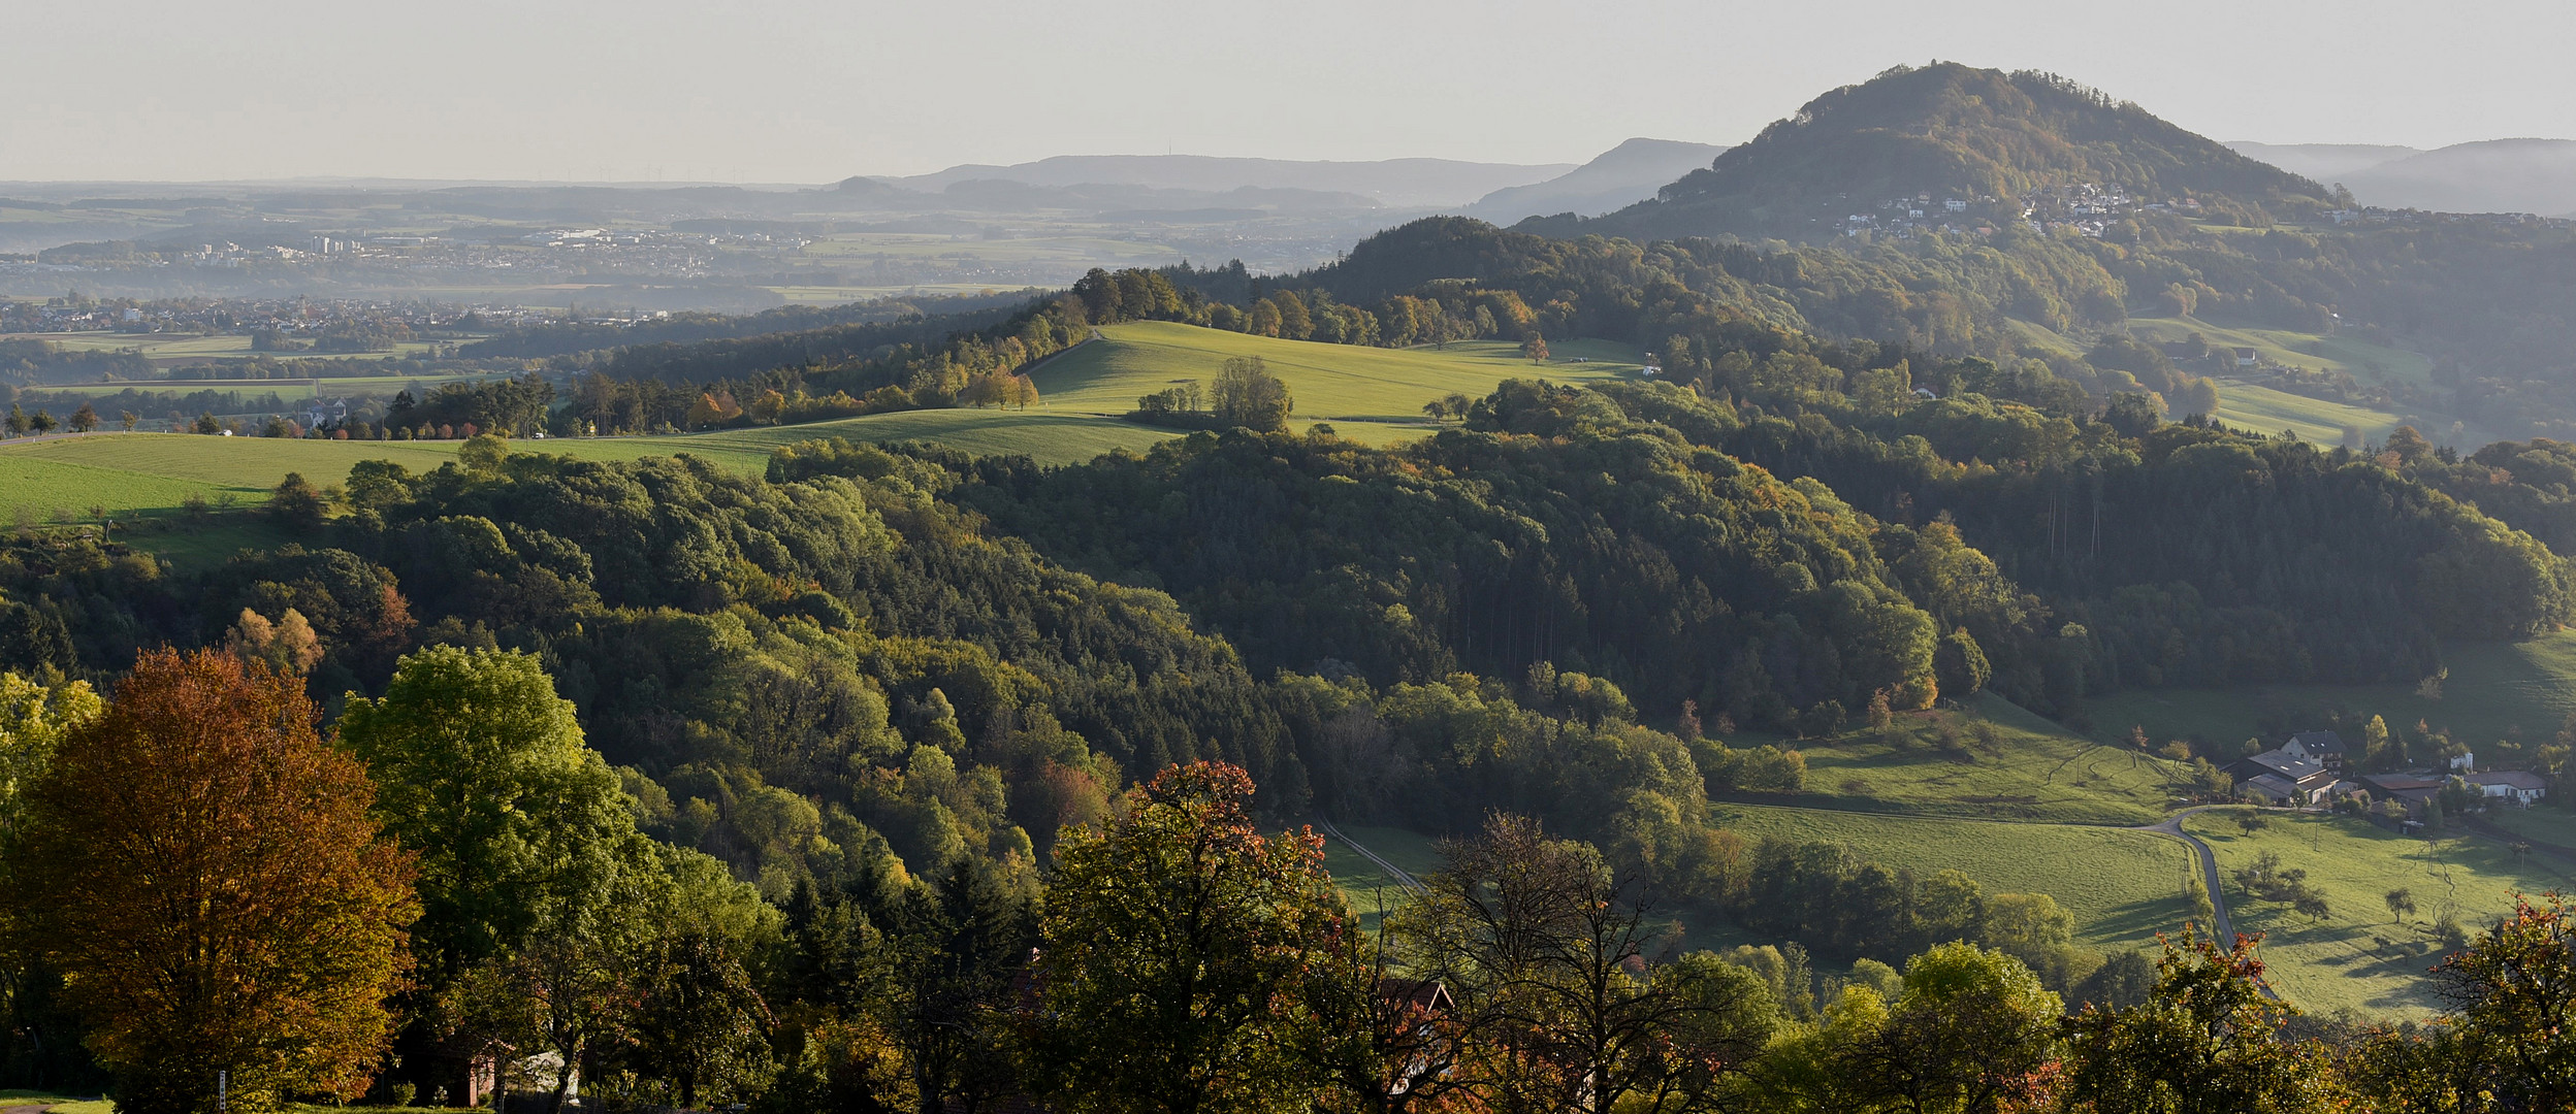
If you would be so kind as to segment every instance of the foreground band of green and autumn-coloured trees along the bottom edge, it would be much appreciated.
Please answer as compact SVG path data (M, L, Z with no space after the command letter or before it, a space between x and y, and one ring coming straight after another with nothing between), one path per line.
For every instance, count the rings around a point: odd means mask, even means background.
M2313 1027L2267 993L2251 936L2182 926L2154 960L2063 983L2027 962L2009 895L1953 872L1919 903L1837 911L1929 934L1901 970L1682 952L1649 875L1504 810L1443 841L1370 936L1321 839L1265 834L1224 762L1066 823L1043 880L961 854L930 877L799 880L778 908L636 828L526 653L415 653L337 746L291 671L216 651L152 653L111 705L67 689L5 728L33 780L0 862L31 900L0 960L80 1009L13 993L10 1065L106 1070L131 1111L482 1086L564 1109L574 1070L590 1099L773 1111L2576 1101L2553 1052L2548 988L2576 978L2555 895L2439 965L2439 1024Z

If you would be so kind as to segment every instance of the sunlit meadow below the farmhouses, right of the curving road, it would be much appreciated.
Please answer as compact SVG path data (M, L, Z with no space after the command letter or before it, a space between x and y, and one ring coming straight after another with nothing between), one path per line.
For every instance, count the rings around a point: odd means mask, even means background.
M2442 962L2432 939L2437 916L2452 913L2468 931L2478 931L2512 911L2517 890L2568 885L2563 864L2540 854L2514 862L2506 849L2483 839L2419 839L2360 818L2282 813L2269 813L2264 828L2246 834L2231 813L2236 810L2184 821L2218 854L2221 875L2272 852L2285 870L2306 870L2308 885L2326 898L2331 916L2308 921L2226 882L2236 931L2264 934L2275 988L2311 1011L2432 1014L2439 1003L2424 972ZM2416 916L2406 924L2396 924L2383 900L2396 888L2414 893Z

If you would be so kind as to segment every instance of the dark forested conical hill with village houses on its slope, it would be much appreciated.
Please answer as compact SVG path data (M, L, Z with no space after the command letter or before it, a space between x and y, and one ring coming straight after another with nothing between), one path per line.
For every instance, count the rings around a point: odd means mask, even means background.
M1935 62L1808 100L1654 201L1533 229L1819 239L1886 198L1929 193L1935 206L1963 198L1965 216L1994 221L2017 219L2017 198L2032 190L2081 183L2223 206L2329 196L2318 183L2063 77Z

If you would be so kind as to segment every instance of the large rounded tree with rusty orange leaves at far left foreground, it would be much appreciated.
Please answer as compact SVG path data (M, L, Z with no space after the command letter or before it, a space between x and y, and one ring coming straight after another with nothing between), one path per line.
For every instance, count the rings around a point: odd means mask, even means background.
M294 674L144 653L28 790L21 944L64 978L121 1114L358 1096L417 916L376 785Z

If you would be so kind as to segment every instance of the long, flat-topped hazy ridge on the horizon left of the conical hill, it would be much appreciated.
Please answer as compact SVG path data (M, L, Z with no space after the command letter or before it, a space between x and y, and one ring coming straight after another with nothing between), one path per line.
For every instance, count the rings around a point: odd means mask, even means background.
M1381 206L1427 208L1463 206L1486 193L1543 183L1577 170L1571 162L1461 162L1461 160L1378 160L1378 162L1298 162L1231 160L1213 154L1056 154L1038 162L958 165L930 175L876 178L904 190L940 193L969 180L1023 185L1151 185L1164 190L1226 193L1239 188L1291 188L1319 193L1358 193Z

